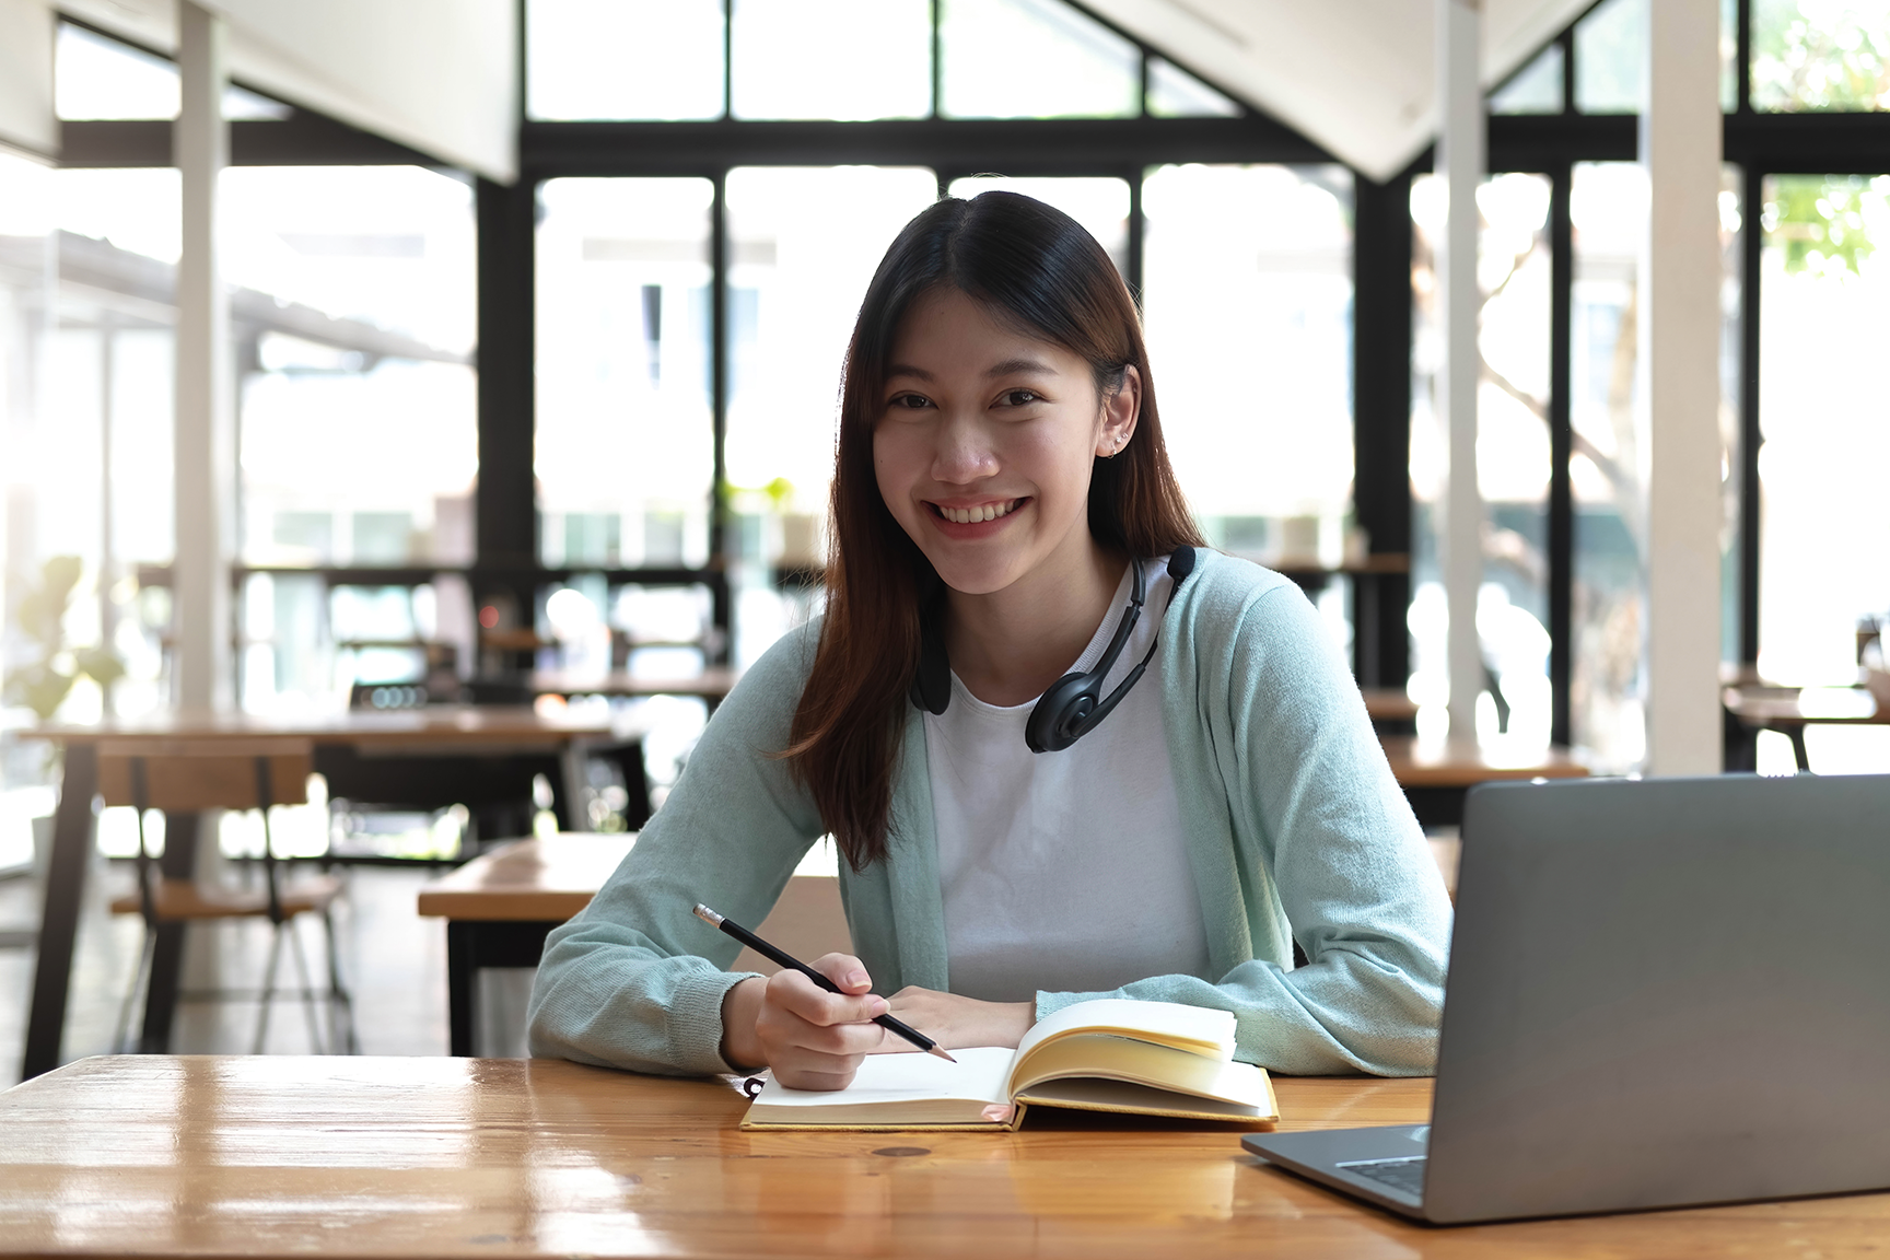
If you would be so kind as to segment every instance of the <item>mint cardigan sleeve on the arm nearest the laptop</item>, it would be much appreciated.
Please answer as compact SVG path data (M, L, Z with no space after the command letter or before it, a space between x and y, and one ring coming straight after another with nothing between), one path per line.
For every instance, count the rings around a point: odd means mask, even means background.
M1172 746L1191 748L1176 765L1177 790L1196 793L1185 814L1211 820L1210 848L1232 858L1227 918L1247 929L1244 960L1219 979L1040 994L1038 1016L1089 997L1185 1001L1232 1011L1238 1056L1276 1071L1429 1073L1450 899L1359 688L1289 582L1215 603L1177 654L1196 673L1198 729ZM1291 967L1280 916L1308 965Z

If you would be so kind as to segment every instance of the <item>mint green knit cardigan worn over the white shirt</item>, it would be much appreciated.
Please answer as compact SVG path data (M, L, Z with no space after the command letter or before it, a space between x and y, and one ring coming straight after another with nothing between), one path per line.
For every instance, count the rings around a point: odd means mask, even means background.
M735 941L690 911L705 901L758 926L824 831L771 756L816 635L803 627L756 661L597 899L544 943L533 1054L731 1071L722 996L748 973L726 971ZM1142 686L1162 686L1210 975L1043 992L1038 1018L1089 997L1185 1001L1232 1011L1238 1056L1276 1071L1429 1073L1450 901L1319 616L1280 574L1204 550L1162 618L1159 663ZM858 875L841 861L852 946L879 994L951 990L924 739L913 708L886 860ZM1310 960L1298 969L1295 937Z

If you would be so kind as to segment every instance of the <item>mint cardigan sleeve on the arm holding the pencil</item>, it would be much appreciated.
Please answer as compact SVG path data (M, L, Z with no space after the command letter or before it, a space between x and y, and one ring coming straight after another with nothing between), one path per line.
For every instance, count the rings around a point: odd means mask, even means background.
M603 1067L703 1075L722 1062L722 997L739 946L697 901L760 924L820 818L777 754L815 644L777 642L709 720L669 799L597 897L544 943L531 986L531 1052Z

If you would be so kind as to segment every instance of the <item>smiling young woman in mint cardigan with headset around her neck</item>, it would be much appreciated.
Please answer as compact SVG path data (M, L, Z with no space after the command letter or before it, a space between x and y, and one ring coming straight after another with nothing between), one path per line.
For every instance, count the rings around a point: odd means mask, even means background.
M845 992L726 971L692 907L758 926L822 833L856 956L815 965ZM1272 1069L1423 1073L1448 928L1312 606L1200 546L1109 257L985 193L920 213L873 276L826 616L748 671L552 933L531 1050L841 1088L909 1048L869 1022L888 1009L954 1048L1119 996L1232 1011Z

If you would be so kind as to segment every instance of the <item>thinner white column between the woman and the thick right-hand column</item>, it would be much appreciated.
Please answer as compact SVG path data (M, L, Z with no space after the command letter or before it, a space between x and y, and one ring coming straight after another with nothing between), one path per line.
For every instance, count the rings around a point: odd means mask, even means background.
M1476 591L1484 584L1484 495L1476 485L1476 185L1484 181L1484 93L1478 85L1482 0L1436 0L1436 174L1450 217L1436 259L1444 365L1436 410L1450 436L1450 476L1438 550L1450 606L1450 733L1476 739L1484 654L1476 642Z

